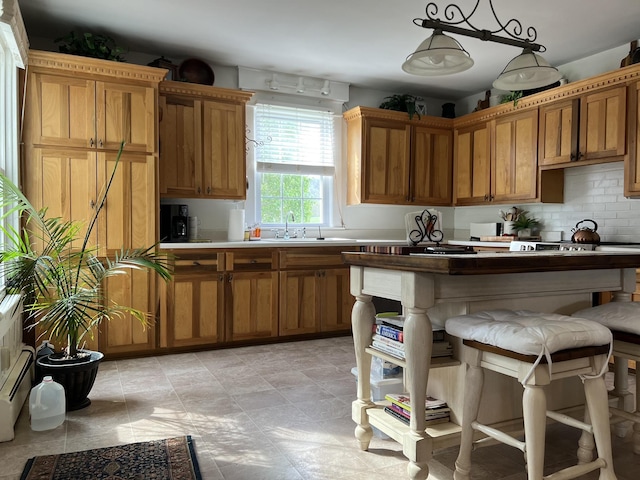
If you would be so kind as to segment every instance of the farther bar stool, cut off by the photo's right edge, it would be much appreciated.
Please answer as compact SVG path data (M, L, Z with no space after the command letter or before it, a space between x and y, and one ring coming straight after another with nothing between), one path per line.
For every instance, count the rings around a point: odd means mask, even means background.
M612 415L611 423L633 422L633 452L640 455L640 382L637 378L638 368L640 368L640 302L614 301L580 310L574 313L574 316L601 323L613 333L613 356L616 362L614 389L610 394L618 397L618 405L609 407ZM628 391L627 360L636 362L635 400ZM618 433L624 436L626 431L626 428L623 428Z

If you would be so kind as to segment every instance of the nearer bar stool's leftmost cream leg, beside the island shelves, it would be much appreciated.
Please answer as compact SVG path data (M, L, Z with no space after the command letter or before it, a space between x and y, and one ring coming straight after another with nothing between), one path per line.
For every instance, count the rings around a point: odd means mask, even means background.
M482 368L469 365L465 375L465 401L462 411L460 451L456 459L456 471L453 472L454 480L469 480L471 473L471 450L473 449L473 428L471 428L471 424L478 418L483 383L484 372Z

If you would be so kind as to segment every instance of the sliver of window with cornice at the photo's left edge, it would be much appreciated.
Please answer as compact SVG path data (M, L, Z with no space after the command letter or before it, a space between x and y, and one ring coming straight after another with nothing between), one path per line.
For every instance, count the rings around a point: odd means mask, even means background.
M18 68L24 67L28 42L17 0L0 0L0 13L0 171L17 184ZM18 218L7 223L17 228ZM0 244L4 241L0 238ZM0 275L0 297L4 297L4 275Z

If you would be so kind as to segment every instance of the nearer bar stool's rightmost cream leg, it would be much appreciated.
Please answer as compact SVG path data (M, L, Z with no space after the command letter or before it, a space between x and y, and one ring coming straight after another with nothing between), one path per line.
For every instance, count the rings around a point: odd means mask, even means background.
M600 469L599 480L616 480L613 471L613 455L611 452L611 431L609 425L609 404L607 387L604 378L587 378L584 380L584 394L593 426L593 437L598 450L598 457L606 462Z

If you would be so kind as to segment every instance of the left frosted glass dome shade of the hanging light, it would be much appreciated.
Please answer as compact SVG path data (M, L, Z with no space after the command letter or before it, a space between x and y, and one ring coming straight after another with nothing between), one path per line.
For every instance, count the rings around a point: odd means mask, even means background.
M469 52L455 39L435 30L402 64L413 75L436 76L463 72L473 65Z

